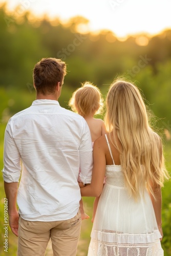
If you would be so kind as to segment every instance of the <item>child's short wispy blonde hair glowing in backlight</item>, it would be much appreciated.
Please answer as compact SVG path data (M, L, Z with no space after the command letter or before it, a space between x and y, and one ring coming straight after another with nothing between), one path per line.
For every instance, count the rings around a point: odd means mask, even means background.
M91 82L84 82L72 95L69 106L81 116L100 114L103 107L103 98L98 87Z

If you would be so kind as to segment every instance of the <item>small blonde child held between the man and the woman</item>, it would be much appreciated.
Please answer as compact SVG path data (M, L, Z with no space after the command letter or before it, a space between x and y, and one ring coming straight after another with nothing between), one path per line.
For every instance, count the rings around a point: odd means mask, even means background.
M100 90L90 82L83 83L82 86L73 93L72 98L69 101L69 106L74 112L77 112L87 121L93 145L97 138L105 134L103 120L94 118L94 115L99 114L103 106ZM92 222L95 217L98 200L99 197L95 198ZM80 200L80 212L82 220L90 218L84 212L82 199Z

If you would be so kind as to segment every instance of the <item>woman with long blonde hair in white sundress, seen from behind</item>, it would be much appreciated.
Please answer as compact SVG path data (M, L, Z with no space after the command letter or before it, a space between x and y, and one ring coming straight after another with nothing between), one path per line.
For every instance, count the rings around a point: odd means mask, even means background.
M81 196L101 194L88 255L163 255L161 187L168 174L134 84L111 85L104 120L109 134L95 141L92 182L81 188Z

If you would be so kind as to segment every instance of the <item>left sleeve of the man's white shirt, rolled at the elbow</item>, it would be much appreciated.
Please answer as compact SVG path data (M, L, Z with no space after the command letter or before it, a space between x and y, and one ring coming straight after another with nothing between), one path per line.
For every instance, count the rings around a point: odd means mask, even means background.
M4 138L3 179L7 183L18 182L21 172L20 154L12 136L12 122L8 122Z

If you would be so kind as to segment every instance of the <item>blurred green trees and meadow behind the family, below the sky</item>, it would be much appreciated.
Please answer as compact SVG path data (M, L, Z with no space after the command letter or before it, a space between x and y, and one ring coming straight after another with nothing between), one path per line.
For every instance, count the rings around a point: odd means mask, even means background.
M170 172L171 155L171 30L150 37L140 34L119 40L111 31L99 34L83 33L82 25L88 20L74 17L66 24L58 18L50 21L47 17L36 19L29 12L13 12L0 8L1 58L0 58L0 143L3 168L3 139L6 123L10 116L27 108L35 99L32 70L42 57L62 58L68 66L68 74L59 98L61 106L68 108L73 91L86 80L96 84L104 98L111 82L125 77L142 89L145 102L151 113L157 116L155 125L165 144L167 168ZM3 180L1 177L1 216L3 215ZM163 195L162 247L165 255L171 255L170 205L171 186L166 182ZM92 201L87 204L92 211ZM91 215L91 213L89 212ZM3 219L1 219L3 223ZM3 229L3 224L1 225ZM91 226L91 225L90 225ZM87 227L86 227L87 228ZM2 230L3 232L3 230ZM90 229L83 229L81 240L90 240ZM13 236L11 234L11 236ZM3 234L1 237L3 241ZM15 241L15 240L14 240ZM11 250L16 251L16 242ZM85 244L88 248L88 244ZM87 250L87 249L86 249ZM4 255L3 248L0 251ZM15 255L16 252L10 255ZM83 254L80 254L83 255ZM86 254L85 254L86 255Z

